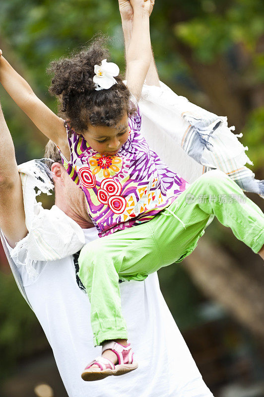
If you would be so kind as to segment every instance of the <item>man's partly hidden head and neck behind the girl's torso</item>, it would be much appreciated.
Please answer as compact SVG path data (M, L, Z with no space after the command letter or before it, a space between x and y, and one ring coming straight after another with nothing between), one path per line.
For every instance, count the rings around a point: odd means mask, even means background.
M66 173L59 150L51 140L46 145L45 157L54 161L46 161L46 164L53 173L55 204L83 229L93 227L84 193Z

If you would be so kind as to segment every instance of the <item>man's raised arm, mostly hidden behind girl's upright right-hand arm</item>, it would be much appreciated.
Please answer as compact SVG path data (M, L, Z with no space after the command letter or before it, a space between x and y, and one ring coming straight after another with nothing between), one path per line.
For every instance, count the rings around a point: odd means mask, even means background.
M154 0L151 0L151 7L149 10L149 16L153 10ZM128 53L128 49L131 42L132 37L132 28L133 28L133 8L129 0L119 0L119 10L122 20L122 28L124 32L125 39L125 49L126 54ZM126 76L127 78L127 76ZM146 84L148 85L157 85L159 87L159 76L156 68L156 64L154 61L154 54L152 51L152 57L150 61L150 66L146 75Z

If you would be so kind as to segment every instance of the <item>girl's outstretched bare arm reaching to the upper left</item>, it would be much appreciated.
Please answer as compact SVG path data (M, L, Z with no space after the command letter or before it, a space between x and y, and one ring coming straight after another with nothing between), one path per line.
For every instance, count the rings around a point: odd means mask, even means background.
M38 129L58 145L66 158L69 149L66 139L66 129L63 120L53 113L33 92L26 80L21 77L11 65L1 56L0 51L0 83L26 113Z

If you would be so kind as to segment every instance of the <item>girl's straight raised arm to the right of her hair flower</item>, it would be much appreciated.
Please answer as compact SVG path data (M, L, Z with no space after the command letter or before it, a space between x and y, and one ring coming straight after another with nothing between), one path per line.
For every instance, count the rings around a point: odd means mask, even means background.
M127 52L127 86L139 101L151 60L149 34L150 0L131 0L133 7L133 29Z

